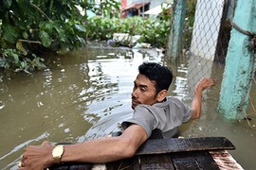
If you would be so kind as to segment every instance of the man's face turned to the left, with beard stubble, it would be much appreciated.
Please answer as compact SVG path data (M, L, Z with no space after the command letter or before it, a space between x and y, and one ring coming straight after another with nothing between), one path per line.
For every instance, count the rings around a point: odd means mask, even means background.
M132 93L132 108L135 109L138 104L153 105L156 103L155 82L144 75L137 75L134 81L134 90Z

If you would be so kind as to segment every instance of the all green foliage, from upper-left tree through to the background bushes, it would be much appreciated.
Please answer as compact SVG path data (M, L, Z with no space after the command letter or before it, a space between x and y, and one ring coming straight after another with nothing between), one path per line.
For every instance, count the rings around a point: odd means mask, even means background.
M100 14L88 19L78 7ZM0 67L29 73L45 68L41 54L64 53L91 40L110 40L113 34L141 35L140 42L165 46L170 15L119 19L119 3L104 0L1 0Z

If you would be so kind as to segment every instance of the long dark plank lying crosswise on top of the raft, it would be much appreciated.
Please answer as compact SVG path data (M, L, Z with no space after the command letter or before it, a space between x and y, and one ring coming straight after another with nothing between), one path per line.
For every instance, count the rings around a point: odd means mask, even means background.
M154 139L142 144L136 155L231 149L235 149L235 146L225 137Z

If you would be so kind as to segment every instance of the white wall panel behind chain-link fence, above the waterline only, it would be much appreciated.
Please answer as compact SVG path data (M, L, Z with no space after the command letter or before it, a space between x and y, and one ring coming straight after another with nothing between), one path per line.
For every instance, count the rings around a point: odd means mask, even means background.
M214 59L223 6L224 0L197 0L191 44L193 55Z

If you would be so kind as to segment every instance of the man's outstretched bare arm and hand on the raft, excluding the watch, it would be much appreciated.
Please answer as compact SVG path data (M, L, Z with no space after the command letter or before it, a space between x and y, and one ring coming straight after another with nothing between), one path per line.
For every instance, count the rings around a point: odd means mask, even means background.
M144 128L132 125L118 137L106 137L82 144L64 145L61 161L107 162L134 156L137 148L148 139ZM49 143L28 146L20 169L43 169L53 164Z

